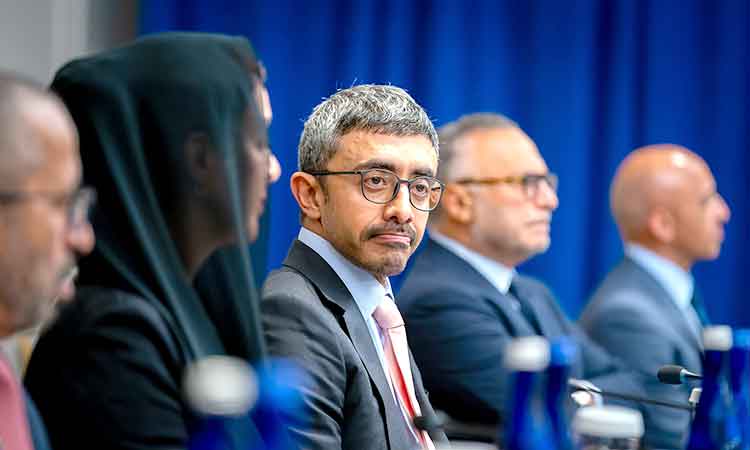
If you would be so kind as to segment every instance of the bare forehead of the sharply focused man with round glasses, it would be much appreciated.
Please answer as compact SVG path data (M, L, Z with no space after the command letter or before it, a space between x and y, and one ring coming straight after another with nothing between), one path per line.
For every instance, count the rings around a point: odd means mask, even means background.
M388 162L398 170L437 170L437 154L431 141L422 135L396 136L392 134L352 131L342 136L337 143L332 162L350 168L368 161Z

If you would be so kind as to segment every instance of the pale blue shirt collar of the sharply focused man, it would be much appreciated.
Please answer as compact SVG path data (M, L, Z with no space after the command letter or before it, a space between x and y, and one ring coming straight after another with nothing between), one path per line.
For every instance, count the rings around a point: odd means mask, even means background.
M360 313L364 317L371 317L386 295L393 297L391 282L385 279L385 286L380 284L371 273L352 264L344 255L339 253L330 242L302 227L297 239L320 255L326 263L341 278L344 285L352 294Z

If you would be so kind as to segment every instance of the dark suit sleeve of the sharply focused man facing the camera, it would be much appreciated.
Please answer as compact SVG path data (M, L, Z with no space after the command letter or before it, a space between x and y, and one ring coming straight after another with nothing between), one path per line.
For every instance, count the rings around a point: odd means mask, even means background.
M321 314L312 287L299 277L271 275L263 289L261 311L268 353L301 365L306 379L290 389L304 407L286 412L292 438L305 449L346 448L342 441L347 370L330 316ZM297 281L297 283L293 283ZM316 299L315 302L310 299ZM279 380L284 383L286 380ZM298 381L298 380L297 380Z

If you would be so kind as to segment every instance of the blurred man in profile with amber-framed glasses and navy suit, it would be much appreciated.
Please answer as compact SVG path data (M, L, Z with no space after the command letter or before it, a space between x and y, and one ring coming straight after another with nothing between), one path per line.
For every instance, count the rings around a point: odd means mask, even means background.
M440 146L446 192L398 296L435 408L463 422L502 420L503 351L529 335L570 336L580 353L571 376L628 389L549 289L515 269L547 250L558 205L557 177L534 142L505 117L471 114L440 129Z

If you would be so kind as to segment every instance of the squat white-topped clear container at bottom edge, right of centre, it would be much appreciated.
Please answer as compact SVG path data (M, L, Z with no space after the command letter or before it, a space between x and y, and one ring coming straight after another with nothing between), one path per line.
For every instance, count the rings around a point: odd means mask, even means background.
M622 406L586 406L573 417L573 433L580 450L637 450L643 416Z

